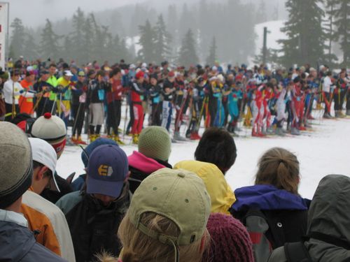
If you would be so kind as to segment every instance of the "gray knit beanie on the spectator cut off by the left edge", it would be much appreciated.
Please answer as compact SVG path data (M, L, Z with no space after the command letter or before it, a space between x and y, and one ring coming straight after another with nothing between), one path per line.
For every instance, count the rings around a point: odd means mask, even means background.
M31 185L33 161L25 133L9 122L0 122L0 209L7 208Z

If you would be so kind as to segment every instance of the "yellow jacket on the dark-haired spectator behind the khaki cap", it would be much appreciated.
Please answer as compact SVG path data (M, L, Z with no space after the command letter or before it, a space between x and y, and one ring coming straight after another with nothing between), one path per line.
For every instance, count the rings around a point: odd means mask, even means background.
M186 160L176 163L174 169L185 169L200 176L211 197L211 212L230 214L228 210L236 198L225 176L213 163Z

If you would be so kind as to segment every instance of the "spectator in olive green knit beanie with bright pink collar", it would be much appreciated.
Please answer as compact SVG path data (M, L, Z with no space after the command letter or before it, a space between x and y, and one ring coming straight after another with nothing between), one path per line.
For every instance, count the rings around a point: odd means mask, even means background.
M127 158L132 194L151 173L160 168L172 168L168 163L170 152L172 152L172 140L164 127L148 126L143 129L139 137L138 147L139 152L134 151Z

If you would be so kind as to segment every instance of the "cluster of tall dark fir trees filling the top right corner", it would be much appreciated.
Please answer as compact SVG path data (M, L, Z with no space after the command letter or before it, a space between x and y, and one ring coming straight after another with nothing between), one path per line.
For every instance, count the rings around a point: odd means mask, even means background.
M312 66L349 66L350 0L288 0L288 21L281 29L287 39L274 61L290 66L309 63ZM333 46L339 43L343 56L337 61Z

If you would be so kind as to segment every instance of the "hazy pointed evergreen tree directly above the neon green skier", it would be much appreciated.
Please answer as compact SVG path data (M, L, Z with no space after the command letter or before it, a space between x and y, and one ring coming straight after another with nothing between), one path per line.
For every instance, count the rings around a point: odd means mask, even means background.
M46 19L45 27L41 33L41 57L44 59L58 59L59 58L59 36L55 34L52 29L50 20Z

